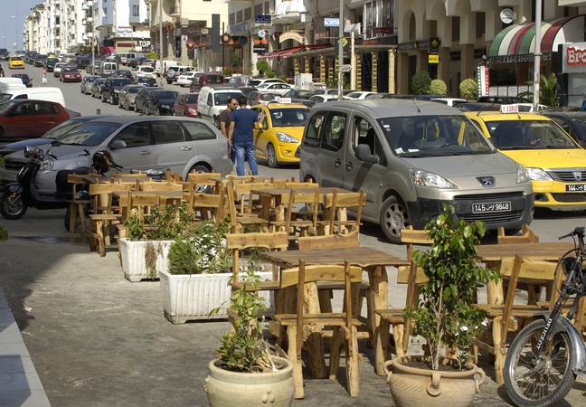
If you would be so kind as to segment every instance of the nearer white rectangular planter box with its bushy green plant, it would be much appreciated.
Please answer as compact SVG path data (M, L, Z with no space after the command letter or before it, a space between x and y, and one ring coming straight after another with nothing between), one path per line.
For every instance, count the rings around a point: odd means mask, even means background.
M173 324L205 319L215 308L230 301L232 290L232 250L226 247L225 234L230 218L222 222L194 223L184 231L184 240L171 244L167 270L159 270L161 298L165 317ZM263 279L271 272L258 272ZM220 308L214 318L227 318Z

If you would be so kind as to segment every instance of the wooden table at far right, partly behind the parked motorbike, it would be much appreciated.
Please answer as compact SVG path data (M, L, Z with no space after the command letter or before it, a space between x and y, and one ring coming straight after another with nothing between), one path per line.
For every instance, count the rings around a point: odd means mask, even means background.
M488 269L500 270L503 260L514 260L515 255L531 260L557 261L563 253L574 248L568 241L540 243L487 244L478 247L477 261L485 263ZM487 282L487 303L504 304L505 294L502 279L497 283Z

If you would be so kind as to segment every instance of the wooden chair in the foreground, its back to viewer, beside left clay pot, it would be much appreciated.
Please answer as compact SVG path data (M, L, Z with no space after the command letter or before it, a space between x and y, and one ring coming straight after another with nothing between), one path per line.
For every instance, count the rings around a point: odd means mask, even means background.
M305 311L307 301L315 303L315 298L306 297L306 284L317 281L345 282L345 312L344 313L312 313L315 309L308 306ZM322 340L321 333L314 332L313 327L332 327L333 341L330 350L329 378L336 380L339 367L339 358L341 347L345 347L346 357L346 376L347 390L350 396L359 395L360 375L357 327L361 322L352 317L352 283L362 281L362 268L350 266L345 260L345 265L305 265L305 260L299 260L298 270L281 271L280 289L297 287L297 313L296 314L277 314L274 320L270 321L270 332L275 335L281 335L281 328L287 329L288 351L287 357L293 364L293 380L295 382L294 398L301 399L304 397L303 390L303 372L301 366L301 350L304 342L307 342L312 336L317 335L317 341ZM310 357L315 360L323 360L325 355L317 355L317 348L307 347ZM311 353L313 352L313 355Z

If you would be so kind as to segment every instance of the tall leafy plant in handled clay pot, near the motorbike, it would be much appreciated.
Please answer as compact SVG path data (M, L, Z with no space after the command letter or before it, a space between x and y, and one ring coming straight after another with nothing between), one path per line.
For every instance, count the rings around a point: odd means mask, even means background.
M425 229L433 243L428 251L414 251L413 258L427 282L417 306L406 307L404 316L414 322L412 335L425 339L429 355L387 361L387 382L399 407L468 406L485 377L468 362L470 346L486 328L484 313L471 304L477 281L496 280L499 274L476 263L477 245L487 231L484 222L457 220L454 208L444 205ZM455 400L448 399L452 396Z

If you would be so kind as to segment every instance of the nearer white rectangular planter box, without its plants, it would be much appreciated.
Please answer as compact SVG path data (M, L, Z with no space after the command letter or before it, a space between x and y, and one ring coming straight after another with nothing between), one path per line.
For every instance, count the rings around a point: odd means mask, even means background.
M272 272L260 272L260 279L272 279ZM165 318L174 324L197 319L227 318L224 308L230 306L232 289L228 279L232 273L222 274L169 274L166 270L159 271L161 280L161 298ZM260 291L259 296L265 298L269 309L272 304L272 293ZM214 308L221 308L218 314L208 317Z

